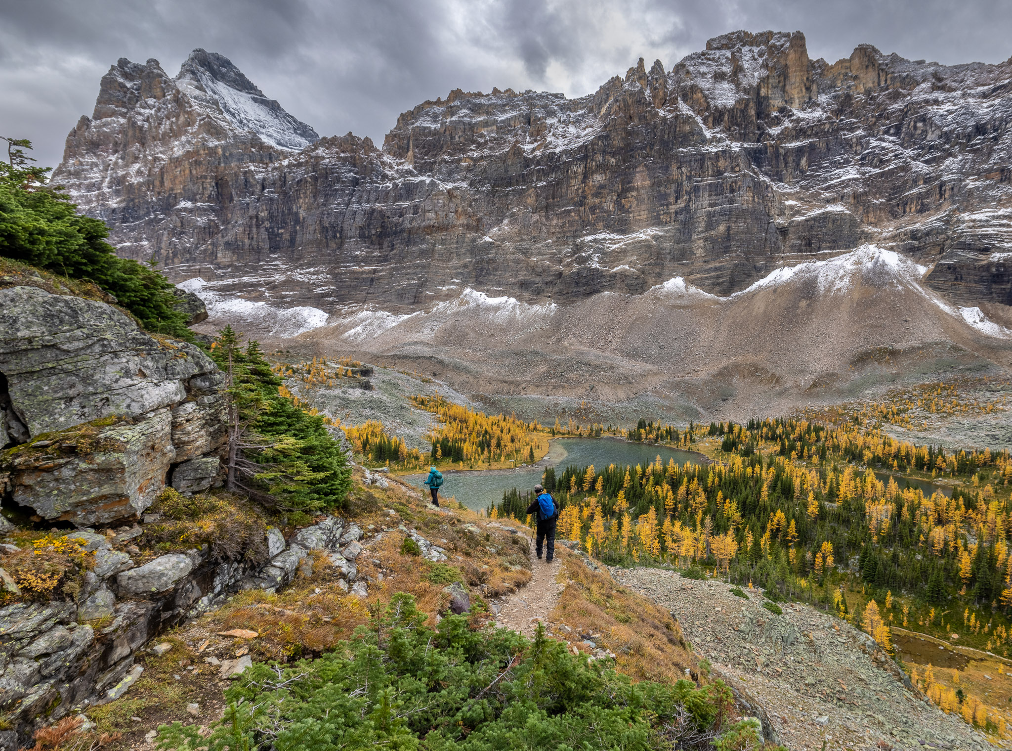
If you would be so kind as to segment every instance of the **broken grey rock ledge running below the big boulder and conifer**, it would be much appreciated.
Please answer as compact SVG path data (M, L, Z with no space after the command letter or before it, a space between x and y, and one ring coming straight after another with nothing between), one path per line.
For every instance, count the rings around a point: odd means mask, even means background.
M130 676L140 675L135 655L159 633L221 606L241 589L273 592L289 584L310 551L343 561L342 547L347 551L350 540L360 549L361 535L356 525L327 517L299 530L290 547L277 529L268 529L266 548L273 555L263 565L245 551L241 561L215 560L204 546L137 566L105 535L73 532L69 536L95 556L79 602L0 607L0 712L10 732L26 740L40 724L118 698L133 682ZM338 568L342 587L367 593L353 565ZM0 737L0 748L4 743Z

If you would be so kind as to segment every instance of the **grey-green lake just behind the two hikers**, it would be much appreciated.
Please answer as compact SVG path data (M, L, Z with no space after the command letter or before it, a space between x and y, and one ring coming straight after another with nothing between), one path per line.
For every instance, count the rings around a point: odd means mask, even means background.
M453 472L444 470L443 486L439 489L440 498L455 497L470 509L475 511L487 509L491 503L499 503L503 493L516 488L524 492L533 489L541 482L545 467L556 467L561 475L570 465L585 467L594 465L601 469L610 464L615 465L648 465L658 455L667 465L673 458L676 465L686 462L700 464L705 457L692 451L681 451L668 446L650 445L647 443L628 443L616 438L556 438L552 441L547 455L530 467L518 467L515 470L470 470ZM401 479L428 490L422 482L428 477L424 475L407 475Z

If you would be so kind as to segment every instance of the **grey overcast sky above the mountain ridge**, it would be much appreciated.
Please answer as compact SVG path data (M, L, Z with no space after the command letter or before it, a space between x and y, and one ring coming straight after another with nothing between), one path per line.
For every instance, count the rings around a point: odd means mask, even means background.
M382 144L400 112L453 88L580 96L738 28L799 29L830 62L860 43L946 64L1012 56L1010 0L0 0L0 136L56 165L118 58L175 75L203 48L321 136Z

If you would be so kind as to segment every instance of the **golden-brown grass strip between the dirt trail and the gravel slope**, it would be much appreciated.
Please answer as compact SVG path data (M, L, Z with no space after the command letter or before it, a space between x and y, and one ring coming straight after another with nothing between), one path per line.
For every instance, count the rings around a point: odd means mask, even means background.
M567 585L550 619L573 629L565 634L579 647L581 634L600 634L595 643L611 650L615 667L635 680L673 682L697 678L696 659L688 651L670 613L615 583L603 571L591 571L576 556L564 558Z

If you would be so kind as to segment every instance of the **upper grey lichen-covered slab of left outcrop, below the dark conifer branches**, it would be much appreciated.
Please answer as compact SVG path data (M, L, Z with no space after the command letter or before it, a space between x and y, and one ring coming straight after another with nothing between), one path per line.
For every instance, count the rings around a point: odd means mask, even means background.
M197 347L157 340L105 303L0 289L0 371L32 437L179 404L187 380L215 370Z

